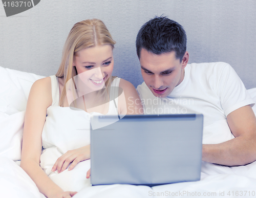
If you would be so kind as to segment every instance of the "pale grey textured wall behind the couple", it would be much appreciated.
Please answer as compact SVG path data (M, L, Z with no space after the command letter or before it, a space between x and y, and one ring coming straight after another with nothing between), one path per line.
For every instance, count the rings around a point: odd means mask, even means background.
M34 8L6 17L0 5L0 66L39 75L56 73L72 26L99 18L117 44L114 75L142 82L135 38L155 15L167 15L187 33L189 63L231 64L247 89L256 87L256 3L254 0L41 0Z

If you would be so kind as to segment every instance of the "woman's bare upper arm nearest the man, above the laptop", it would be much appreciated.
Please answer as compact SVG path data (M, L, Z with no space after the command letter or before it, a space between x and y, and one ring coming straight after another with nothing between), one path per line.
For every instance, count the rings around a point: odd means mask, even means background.
M120 79L119 87L123 94L118 97L118 110L121 115L143 114L143 106L134 85Z

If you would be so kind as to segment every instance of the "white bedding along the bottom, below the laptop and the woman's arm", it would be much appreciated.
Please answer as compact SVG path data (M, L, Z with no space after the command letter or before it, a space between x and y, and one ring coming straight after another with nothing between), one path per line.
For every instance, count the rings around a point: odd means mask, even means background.
M15 162L0 157L0 164L1 197L45 197ZM152 188L120 184L91 186L82 189L73 197L255 197L255 193L256 162L238 167L203 162L201 180L197 182L181 182Z

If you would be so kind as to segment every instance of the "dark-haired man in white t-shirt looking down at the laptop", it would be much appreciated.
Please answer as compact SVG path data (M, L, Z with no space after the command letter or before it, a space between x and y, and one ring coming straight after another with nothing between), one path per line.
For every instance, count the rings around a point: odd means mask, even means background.
M229 64L187 64L186 33L167 17L145 23L136 48L144 114L201 113L203 161L237 166L256 160L254 102Z

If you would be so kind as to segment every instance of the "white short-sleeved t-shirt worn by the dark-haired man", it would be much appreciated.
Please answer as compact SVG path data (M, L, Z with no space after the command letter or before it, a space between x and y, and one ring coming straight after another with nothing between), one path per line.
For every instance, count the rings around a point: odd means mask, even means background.
M203 114L203 144L234 138L226 116L254 104L237 73L224 62L187 64L183 81L165 98L155 97L145 82L137 92L144 114Z

